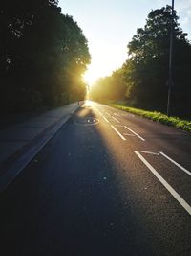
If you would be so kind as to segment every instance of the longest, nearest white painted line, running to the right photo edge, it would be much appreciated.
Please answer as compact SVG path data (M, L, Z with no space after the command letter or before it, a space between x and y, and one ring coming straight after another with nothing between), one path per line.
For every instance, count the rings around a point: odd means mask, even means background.
M188 214L191 215L191 206L183 198L180 197L180 195L171 187L171 185L168 184L168 182L166 182L166 180L161 175L159 175L155 168L149 162L147 162L147 160L138 151L135 151L135 153L138 155L138 158L153 173L153 175L155 175L159 179L161 184L170 192L170 194L179 201L180 205L188 212Z

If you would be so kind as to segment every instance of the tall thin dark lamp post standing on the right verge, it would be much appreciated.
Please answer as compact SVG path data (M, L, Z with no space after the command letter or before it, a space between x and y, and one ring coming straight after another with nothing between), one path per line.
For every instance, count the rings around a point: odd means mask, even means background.
M167 102L167 115L170 115L170 100L171 90L173 87L172 79L172 57L173 57L173 34L174 34L174 0L172 0L171 10L171 31L170 31L170 50L169 50L169 78L168 78L168 102Z

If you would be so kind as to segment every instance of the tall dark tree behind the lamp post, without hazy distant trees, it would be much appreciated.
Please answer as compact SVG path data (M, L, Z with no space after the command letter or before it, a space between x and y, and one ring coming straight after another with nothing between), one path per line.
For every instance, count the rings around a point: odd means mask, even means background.
M188 104L186 96L190 89L188 74L191 67L191 45L180 29L178 19L174 12L174 112L178 111L183 102L184 105ZM138 29L137 35L128 44L129 59L124 65L127 97L134 99L139 106L163 111L166 109L170 23L171 7L152 11L144 28Z

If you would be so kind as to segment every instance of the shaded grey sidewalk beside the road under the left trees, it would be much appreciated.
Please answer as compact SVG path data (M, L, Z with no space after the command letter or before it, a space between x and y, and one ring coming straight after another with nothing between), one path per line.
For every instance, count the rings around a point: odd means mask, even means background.
M47 111L25 122L0 128L0 168L18 151L25 150L32 142L60 123L63 125L77 109L76 103ZM54 131L55 132L55 131ZM53 132L52 132L53 133Z

